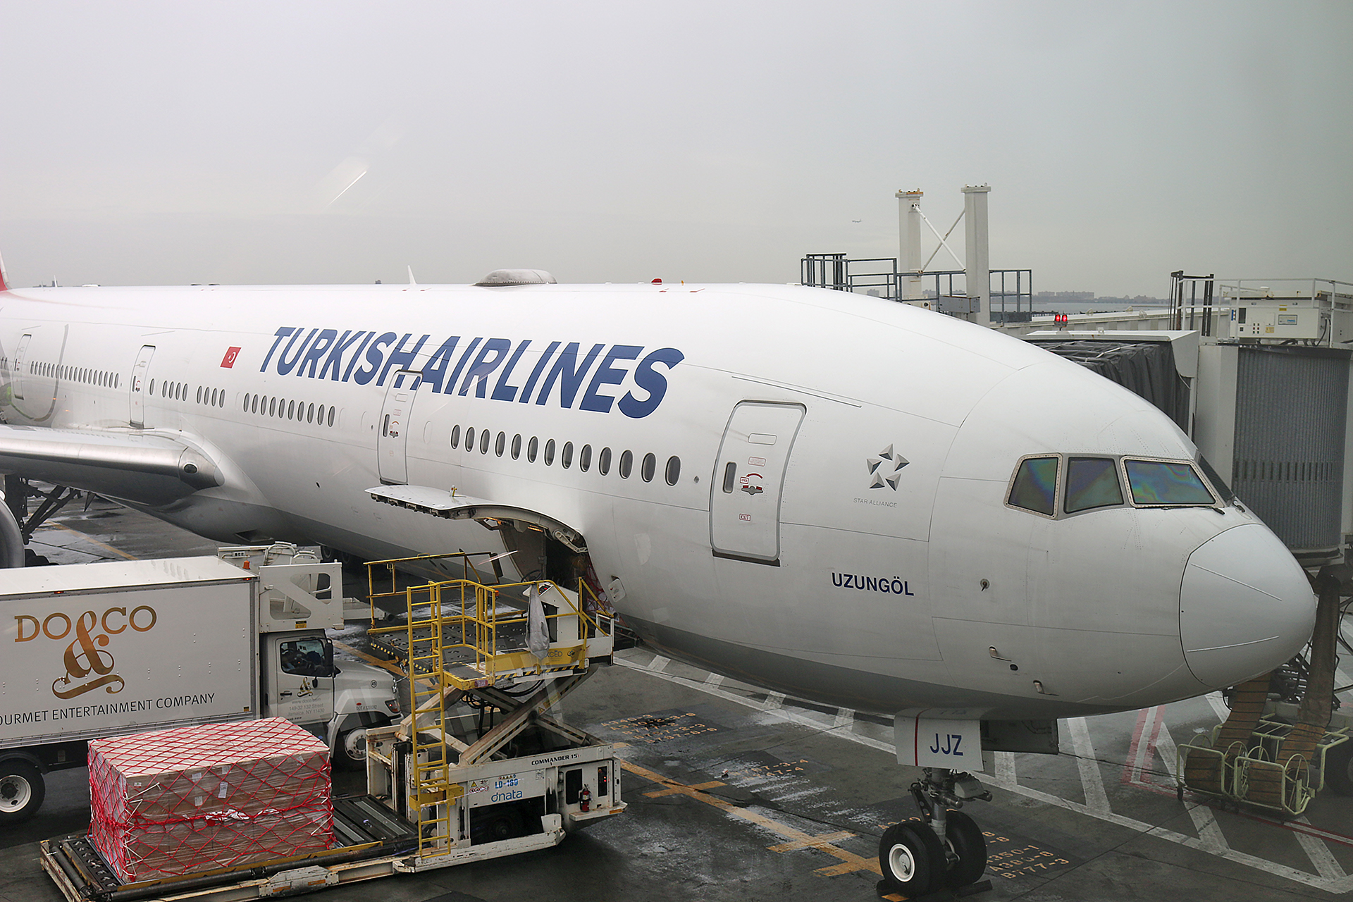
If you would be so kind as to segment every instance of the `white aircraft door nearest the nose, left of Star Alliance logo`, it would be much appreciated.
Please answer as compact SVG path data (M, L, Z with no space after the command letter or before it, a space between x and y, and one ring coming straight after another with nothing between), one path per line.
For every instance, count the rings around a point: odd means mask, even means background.
M744 400L733 408L710 485L716 557L779 567L781 490L802 419L801 404Z

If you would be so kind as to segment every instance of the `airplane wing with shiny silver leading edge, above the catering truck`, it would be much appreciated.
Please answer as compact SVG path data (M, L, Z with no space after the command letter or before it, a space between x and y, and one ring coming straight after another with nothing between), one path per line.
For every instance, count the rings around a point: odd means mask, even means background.
M0 472L143 504L168 504L222 484L191 444L135 431L0 425Z

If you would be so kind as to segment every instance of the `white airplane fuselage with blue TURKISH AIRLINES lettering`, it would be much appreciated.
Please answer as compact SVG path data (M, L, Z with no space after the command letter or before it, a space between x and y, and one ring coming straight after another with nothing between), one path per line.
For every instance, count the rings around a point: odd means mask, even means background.
M166 521L388 557L502 541L379 503L380 483L540 511L586 540L655 648L856 710L1137 709L1264 672L1314 622L1300 567L1243 507L1220 492L1131 503L1124 460L1197 454L1157 408L888 300L782 285L11 289L0 354L11 427L164 437L214 461L221 484L172 500L104 487ZM1112 460L1123 503L1012 506L1028 456Z

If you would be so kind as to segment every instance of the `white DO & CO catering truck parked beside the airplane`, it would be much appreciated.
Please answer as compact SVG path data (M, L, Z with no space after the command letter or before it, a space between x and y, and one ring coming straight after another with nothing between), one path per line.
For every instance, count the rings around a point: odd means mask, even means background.
M107 736L284 717L360 767L399 696L391 672L334 664L341 587L338 564L292 545L4 571L0 825Z

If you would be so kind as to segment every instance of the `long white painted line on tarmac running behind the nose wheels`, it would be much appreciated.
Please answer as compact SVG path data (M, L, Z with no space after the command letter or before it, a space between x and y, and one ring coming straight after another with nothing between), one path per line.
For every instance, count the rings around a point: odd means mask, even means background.
M660 672L655 673L649 668L626 661L618 655L616 656L616 663L636 671L652 673L659 679L664 679L670 683L676 683L678 686L685 686L687 688L708 692L709 695L714 695L724 701L733 702L735 705L741 705L744 707L750 707L754 710L760 710L763 707L760 703L754 702L750 698L737 695L736 692L729 692L723 688L716 690L706 687L704 682L700 680L686 679L685 676L672 676L670 673L660 673ZM778 711L769 711L769 713L782 718L789 723L797 723L800 726L806 726L809 729L820 730L823 726L821 722L813 721L812 718L805 717L802 714L796 714L792 709L781 709ZM866 748L871 748L878 752L885 752L888 753L889 757L893 757L897 753L892 742L884 742L881 740L863 736L862 733L854 730L838 732L836 736L840 736L844 740L855 742L856 745L863 745ZM1331 879L1316 874L1308 874L1306 871L1298 871L1296 868L1289 868L1285 864L1279 864L1277 861L1269 861L1256 855L1246 855L1245 852L1237 852L1235 849L1231 848L1218 852L1215 849L1207 848L1201 838L1184 836L1183 833L1176 833L1174 830L1169 830L1162 826L1155 826L1145 821L1138 821L1137 818L1115 814L1114 811L1095 811L1089 806L1081 805L1080 802L1072 802L1070 799L1058 798L1049 792L1040 792L1038 790L1031 790L1026 786L1020 786L1019 783L1015 782L1013 765L1011 765L1009 779L1007 779L1005 775L1003 774L1003 765L1001 765L1003 755L1004 755L1003 752L996 753L996 761L997 761L996 774L993 776L988 776L984 782L1000 787L1008 792L1015 792L1016 795L1023 795L1027 799L1034 799L1035 802L1042 802L1043 805L1051 805L1063 809L1066 811L1085 814L1088 817L1093 817L1107 824L1116 824L1119 826L1124 826L1130 830L1135 830L1145 836L1151 836L1158 840L1165 840L1166 842L1174 842L1176 845L1183 845L1189 849L1207 852L1210 855L1215 855L1216 857L1226 859L1227 861L1234 861L1235 864L1242 864L1245 867L1254 868L1256 871L1272 874L1273 876L1283 878L1284 880L1292 880L1293 883L1300 883L1303 886L1308 886L1316 890L1325 890L1326 893L1334 893L1334 894L1353 893L1353 876L1345 876L1342 879Z

